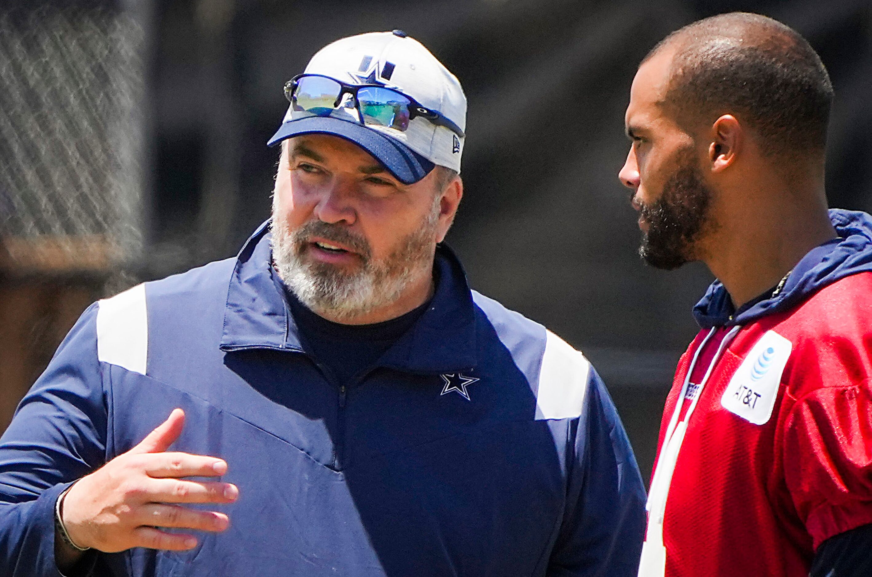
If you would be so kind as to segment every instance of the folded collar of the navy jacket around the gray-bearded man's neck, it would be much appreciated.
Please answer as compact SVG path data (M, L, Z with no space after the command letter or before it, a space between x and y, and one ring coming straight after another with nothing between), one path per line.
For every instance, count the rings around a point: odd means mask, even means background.
M475 366L475 309L466 274L453 251L436 247L439 279L433 299L412 329L378 363L415 373ZM221 350L272 349L303 352L296 322L272 268L269 221L246 241L228 287Z

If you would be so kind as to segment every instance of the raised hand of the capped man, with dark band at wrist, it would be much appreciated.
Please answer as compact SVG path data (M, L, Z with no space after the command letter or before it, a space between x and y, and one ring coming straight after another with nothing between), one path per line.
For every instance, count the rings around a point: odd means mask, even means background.
M139 445L72 485L64 497L61 518L73 543L105 553L131 547L183 551L197 545L194 535L167 533L157 527L227 529L229 519L224 513L183 506L232 503L239 494L229 483L181 479L227 472L227 463L220 458L166 452L184 424L184 411L175 409ZM58 553L62 553L58 567L72 565L81 556L66 545Z

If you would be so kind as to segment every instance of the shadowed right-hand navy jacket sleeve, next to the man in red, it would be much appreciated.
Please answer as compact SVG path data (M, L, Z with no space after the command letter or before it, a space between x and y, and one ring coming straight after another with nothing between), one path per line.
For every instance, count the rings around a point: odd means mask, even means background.
M635 577L644 540L645 490L621 419L593 367L577 424L568 508L548 576Z

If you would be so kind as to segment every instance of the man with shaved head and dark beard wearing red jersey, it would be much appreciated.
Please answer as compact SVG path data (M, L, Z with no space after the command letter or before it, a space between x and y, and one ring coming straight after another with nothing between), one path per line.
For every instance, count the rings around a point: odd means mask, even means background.
M640 255L718 280L666 401L640 576L872 574L872 218L827 209L833 89L770 18L639 66L620 179Z

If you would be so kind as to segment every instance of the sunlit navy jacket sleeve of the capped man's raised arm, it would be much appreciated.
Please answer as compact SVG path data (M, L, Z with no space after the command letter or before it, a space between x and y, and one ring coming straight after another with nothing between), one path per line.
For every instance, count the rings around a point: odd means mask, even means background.
M0 574L60 577L54 506L103 465L106 400L97 358L98 305L85 310L0 438Z

